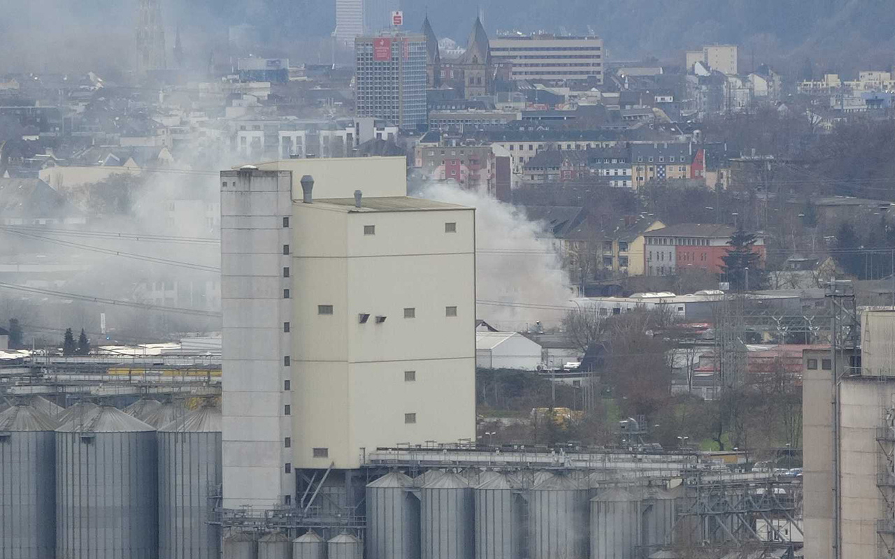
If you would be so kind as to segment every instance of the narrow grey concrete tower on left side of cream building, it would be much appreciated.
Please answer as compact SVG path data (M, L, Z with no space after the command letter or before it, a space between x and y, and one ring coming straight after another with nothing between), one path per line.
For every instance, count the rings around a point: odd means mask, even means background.
M292 288L283 268L291 242L283 218L292 217L288 172L221 173L221 308L224 506L269 507L294 494L286 437L291 405ZM292 224L290 223L290 226ZM291 249L290 249L291 250ZM290 356L291 359L291 356Z

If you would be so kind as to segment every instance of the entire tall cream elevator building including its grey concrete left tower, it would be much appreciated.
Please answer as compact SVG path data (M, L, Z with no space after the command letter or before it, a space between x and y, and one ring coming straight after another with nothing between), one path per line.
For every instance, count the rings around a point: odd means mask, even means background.
M473 208L408 198L404 157L243 167L221 189L225 507L475 436Z

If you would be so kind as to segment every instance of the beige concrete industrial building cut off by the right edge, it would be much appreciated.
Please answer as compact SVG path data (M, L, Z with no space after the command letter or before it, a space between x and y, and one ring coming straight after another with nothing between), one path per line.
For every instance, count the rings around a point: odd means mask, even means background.
M805 557L895 555L893 326L865 310L859 348L805 351Z

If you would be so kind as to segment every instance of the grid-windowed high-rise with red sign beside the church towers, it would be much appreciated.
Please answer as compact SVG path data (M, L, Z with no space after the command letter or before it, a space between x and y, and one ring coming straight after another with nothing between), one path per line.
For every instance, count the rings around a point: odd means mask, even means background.
M426 38L398 31L354 39L357 116L416 131L426 118Z

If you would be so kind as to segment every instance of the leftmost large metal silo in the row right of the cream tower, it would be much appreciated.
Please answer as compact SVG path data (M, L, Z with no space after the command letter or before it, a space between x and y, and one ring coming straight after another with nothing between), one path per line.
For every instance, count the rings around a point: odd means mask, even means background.
M368 559L419 559L420 500L399 472L367 485Z

